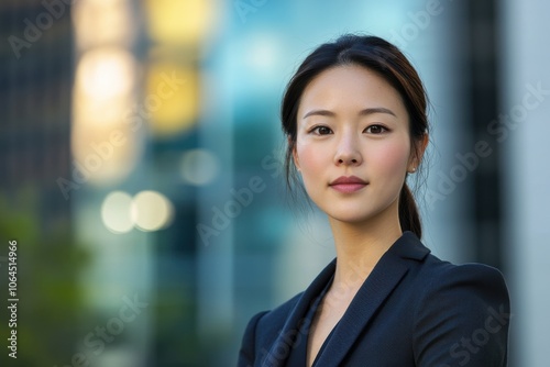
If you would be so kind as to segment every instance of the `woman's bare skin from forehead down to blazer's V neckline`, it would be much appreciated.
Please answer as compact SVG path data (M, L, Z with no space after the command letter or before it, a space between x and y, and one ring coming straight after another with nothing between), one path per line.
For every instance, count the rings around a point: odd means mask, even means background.
M365 67L330 68L305 89L294 162L308 196L328 214L338 258L310 329L308 366L378 259L402 236L399 193L427 143L425 136L411 144L399 93ZM365 185L339 190L331 184L342 176Z

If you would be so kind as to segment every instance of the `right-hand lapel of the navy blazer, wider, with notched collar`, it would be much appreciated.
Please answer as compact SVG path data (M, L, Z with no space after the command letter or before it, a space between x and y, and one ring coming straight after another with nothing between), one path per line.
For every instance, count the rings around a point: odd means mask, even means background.
M384 254L355 294L344 315L337 324L317 366L340 366L343 358L367 326L373 314L408 271L403 258L421 259L430 251L410 232Z

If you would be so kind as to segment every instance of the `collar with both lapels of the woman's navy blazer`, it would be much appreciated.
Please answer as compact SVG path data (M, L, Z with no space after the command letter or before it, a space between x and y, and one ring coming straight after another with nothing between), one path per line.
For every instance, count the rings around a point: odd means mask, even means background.
M429 253L430 251L414 233L408 231L403 233L381 257L369 278L359 289L337 324L323 354L319 357L318 366L339 366L341 364L354 341L360 336L361 331L366 327L373 314L408 271L410 265L403 259L422 260ZM332 260L302 293L262 366L284 366L290 349L294 347L289 342L307 342L306 332L299 329L301 320L311 302L334 275L336 262L337 259ZM282 351L287 351L287 353L280 353Z

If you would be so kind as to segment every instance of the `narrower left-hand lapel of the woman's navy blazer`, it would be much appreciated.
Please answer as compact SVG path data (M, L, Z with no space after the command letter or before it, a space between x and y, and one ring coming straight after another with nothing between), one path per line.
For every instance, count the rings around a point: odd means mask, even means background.
M301 332L301 322L308 312L311 302L321 293L330 278L334 275L337 260L333 259L304 291L298 303L288 315L283 330L279 332L270 353L262 359L262 367L285 366L294 343L307 342L307 331Z

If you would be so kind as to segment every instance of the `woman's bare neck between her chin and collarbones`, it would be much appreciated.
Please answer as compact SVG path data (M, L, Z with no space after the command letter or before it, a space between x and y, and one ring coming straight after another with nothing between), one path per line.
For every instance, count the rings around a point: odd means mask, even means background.
M333 218L329 221L338 258L333 285L354 293L403 234L397 201L367 222L349 223Z

